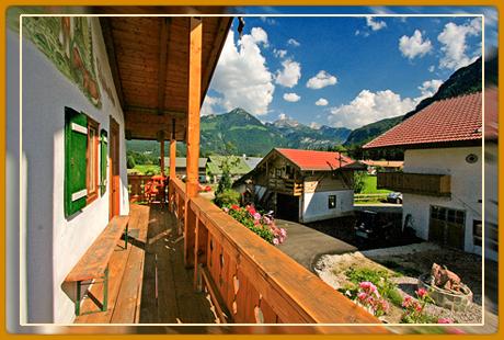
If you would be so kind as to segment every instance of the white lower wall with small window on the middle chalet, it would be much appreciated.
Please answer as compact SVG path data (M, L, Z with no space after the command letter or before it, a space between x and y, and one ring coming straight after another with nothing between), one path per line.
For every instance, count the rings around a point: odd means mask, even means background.
M329 196L336 196L336 207L329 208ZM300 222L309 223L321 219L334 218L352 213L354 209L354 191L322 191L314 193L303 193L299 200L301 209Z

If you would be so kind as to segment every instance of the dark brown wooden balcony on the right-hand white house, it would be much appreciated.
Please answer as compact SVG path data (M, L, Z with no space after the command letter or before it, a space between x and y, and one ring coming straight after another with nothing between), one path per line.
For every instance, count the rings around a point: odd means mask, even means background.
M377 188L431 196L450 196L449 174L380 172Z

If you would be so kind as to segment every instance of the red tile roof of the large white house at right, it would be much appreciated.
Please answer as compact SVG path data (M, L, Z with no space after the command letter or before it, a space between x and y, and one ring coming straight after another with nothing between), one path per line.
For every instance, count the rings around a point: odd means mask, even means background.
M481 139L481 92L436 101L369 141L364 148L408 148Z

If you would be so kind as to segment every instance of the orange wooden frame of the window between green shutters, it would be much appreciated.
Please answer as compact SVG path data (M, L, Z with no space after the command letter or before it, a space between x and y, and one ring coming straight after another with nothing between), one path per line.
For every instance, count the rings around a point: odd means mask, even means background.
M94 131L94 136L91 137L91 131ZM90 150L93 150L93 162L90 161ZM100 124L88 116L88 149L85 150L85 188L88 190L88 197L85 200L85 205L91 204L99 196L100 191ZM90 167L93 166L93 169ZM90 172L93 172L94 177L94 190L91 190L91 177Z

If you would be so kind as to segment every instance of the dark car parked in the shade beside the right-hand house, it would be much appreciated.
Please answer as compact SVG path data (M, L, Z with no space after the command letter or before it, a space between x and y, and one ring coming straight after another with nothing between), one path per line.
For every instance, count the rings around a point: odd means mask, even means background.
M385 219L376 212L357 211L355 213L357 218L354 230L358 241L382 243L391 240L398 231L394 222Z

